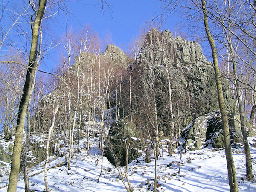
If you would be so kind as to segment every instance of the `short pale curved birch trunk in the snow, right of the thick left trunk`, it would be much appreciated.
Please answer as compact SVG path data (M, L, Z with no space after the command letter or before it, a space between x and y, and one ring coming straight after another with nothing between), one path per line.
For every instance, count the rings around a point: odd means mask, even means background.
M49 185L48 185L48 182L47 182L47 166L48 166L48 163L49 163L49 143L50 143L50 139L51 139L52 129L54 128L55 116L58 112L58 109L59 109L59 104L57 104L57 106L55 107L55 110L54 110L54 113L53 113L53 116L52 116L52 125L49 128L47 143L46 143L46 148L45 148L46 160L45 160L45 164L44 164L44 185L45 185L45 189L46 189L47 192L50 191Z

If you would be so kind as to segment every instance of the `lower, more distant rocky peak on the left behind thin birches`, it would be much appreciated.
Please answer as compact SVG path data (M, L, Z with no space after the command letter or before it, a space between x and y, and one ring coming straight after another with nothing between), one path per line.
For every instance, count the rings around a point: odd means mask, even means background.
M80 61L80 63L79 63ZM104 87L104 84L106 83L106 79L108 76L108 71L110 71L111 79L110 82L113 83L116 80L114 78L117 77L116 73L120 73L120 71L125 70L126 67L130 64L131 59L125 55L125 53L119 48L116 47L116 45L108 45L105 51L101 54L93 54L89 52L83 52L79 55L79 59L76 58L76 62L73 64L72 67L70 67L68 72L65 72L59 81L58 85L55 88L55 93L53 92L48 93L44 98L41 99L39 102L38 108L35 112L35 118L32 118L32 120L35 119L35 127L33 127L32 133L37 134L40 131L47 131L51 125L51 119L52 119L52 113L49 113L49 111L53 111L53 101L54 97L57 98L60 102L60 108L56 115L56 122L64 123L64 116L65 116L65 110L67 108L67 104L65 104L65 97L67 98L67 91L68 91L68 84L67 82L70 81L70 87L73 97L77 97L77 70L79 70L79 79L80 81L80 88L82 90L81 93L84 93L83 96L81 96L81 102L84 103L82 106L83 108L83 114L87 114L89 111L89 105L88 103L88 93L90 92L90 77L91 73L93 73L93 80L92 82L93 86L99 85L98 81L100 82L101 86ZM79 68L78 68L79 63ZM91 68L93 67L93 72L91 71ZM101 71L100 71L101 70ZM111 87L111 85L109 86ZM114 87L114 86L113 86ZM99 87L93 87L93 94L99 96ZM105 91L105 90L100 90ZM111 90L110 90L111 91ZM115 99L114 99L115 100ZM71 107L75 106L75 99L71 99ZM102 110L102 106L99 105L99 101L95 100L93 101L95 104L91 103L92 108L97 108L97 111ZM67 103L67 101L66 101ZM65 106L64 106L65 105ZM113 104L114 107L116 105ZM74 108L74 107L73 107ZM91 110L92 110L91 108ZM73 109L74 110L74 109ZM62 127L62 126L60 126ZM35 130L34 130L35 128Z

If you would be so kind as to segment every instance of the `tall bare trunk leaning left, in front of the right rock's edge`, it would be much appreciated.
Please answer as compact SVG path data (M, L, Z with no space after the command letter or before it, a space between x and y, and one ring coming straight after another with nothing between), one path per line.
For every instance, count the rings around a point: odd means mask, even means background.
M237 185L237 181L236 181L236 170L235 170L235 164L233 161L232 151L231 151L231 146L230 146L229 125L228 125L227 110L226 110L226 106L224 103L224 96L223 96L223 90L222 90L222 84L221 84L221 73L220 73L219 66L218 66L218 57L217 57L215 42L214 42L214 39L212 38L211 32L209 30L205 0L202 0L202 12L204 14L205 32L207 34L207 38L208 38L208 41L209 41L209 44L210 44L211 50L212 50L212 58L213 58L214 71L215 71L216 84L217 84L217 92L218 92L218 102L219 102L219 107L220 107L220 112L221 112L221 121L222 121L222 126L223 126L224 146L225 146L225 154L226 154L226 160L227 160L227 171L228 171L228 177L229 177L230 191L237 192L238 185Z

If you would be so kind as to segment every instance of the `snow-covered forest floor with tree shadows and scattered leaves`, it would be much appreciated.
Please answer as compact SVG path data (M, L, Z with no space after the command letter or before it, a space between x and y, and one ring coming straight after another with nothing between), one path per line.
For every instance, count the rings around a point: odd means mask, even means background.
M250 137L250 143L255 143L255 137ZM81 140L81 153L74 153L72 158L71 170L67 165L61 165L65 162L65 157L59 157L52 161L47 172L47 179L51 191L61 192L83 192L83 191L126 191L115 167L109 163L107 158L101 157L99 151L99 138L91 139L90 155L87 155L86 140ZM75 146L76 147L76 146ZM74 149L76 151L76 149ZM245 178L245 155L242 148L233 148L233 158L236 165L236 174L239 184L239 191L256 191L256 183L248 182ZM188 151L182 155L182 166L180 174L178 171L178 161L180 154L168 156L167 149L163 148L162 157L157 160L157 181L158 191L175 191L175 192L198 192L198 191L229 191L227 166L224 150L213 150L204 148L201 151ZM251 146L253 158L253 173L256 174L256 149ZM145 163L143 155L132 161L128 167L128 175L134 191L152 190L154 186L154 157L151 163ZM101 163L103 160L102 175L97 183L101 172ZM30 189L35 191L44 191L44 162L30 169L29 177ZM52 168L55 167L55 168ZM122 168L124 171L124 168ZM38 174L39 173L39 174ZM18 192L25 190L22 175L19 177L17 186ZM8 178L8 175L6 177ZM2 178L3 179L3 178ZM2 180L3 181L3 180ZM8 179L0 183L5 186ZM6 187L0 189L5 192Z

